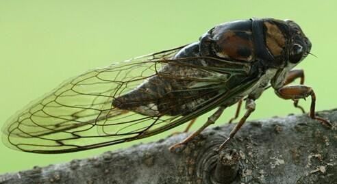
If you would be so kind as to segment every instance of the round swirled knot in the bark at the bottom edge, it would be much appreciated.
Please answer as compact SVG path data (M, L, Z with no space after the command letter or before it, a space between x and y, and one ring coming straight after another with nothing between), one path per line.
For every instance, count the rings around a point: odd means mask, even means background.
M188 143L182 152L185 160L182 164L186 171L186 180L189 183L220 184L232 183L238 179L242 157L240 151L234 149L236 146L229 143L228 147L219 153L217 149L222 143L219 139L214 140L212 144L196 146L196 142L204 142L205 137L201 141L200 137Z

